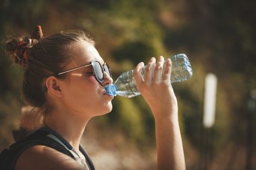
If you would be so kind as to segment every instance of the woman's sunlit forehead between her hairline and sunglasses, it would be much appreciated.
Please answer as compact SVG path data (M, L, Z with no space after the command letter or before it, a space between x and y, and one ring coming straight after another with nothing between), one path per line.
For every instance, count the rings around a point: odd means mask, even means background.
M91 61L99 61L101 64L104 63L96 48L87 41L78 42L75 55L72 59L78 65Z

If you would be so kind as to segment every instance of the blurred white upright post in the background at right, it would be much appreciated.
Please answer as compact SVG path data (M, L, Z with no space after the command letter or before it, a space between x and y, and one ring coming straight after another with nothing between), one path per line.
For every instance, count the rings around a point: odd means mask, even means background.
M217 77L213 73L206 75L204 91L204 127L212 127L215 123L215 108L217 94Z

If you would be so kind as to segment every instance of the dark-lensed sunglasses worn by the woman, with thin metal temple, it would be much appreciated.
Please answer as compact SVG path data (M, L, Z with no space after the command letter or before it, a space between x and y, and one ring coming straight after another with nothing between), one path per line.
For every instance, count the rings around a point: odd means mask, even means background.
M104 63L103 65L101 65L100 62L98 62L98 61L91 61L87 64L82 65L82 66L78 66L78 67L72 68L70 70L62 71L60 73L56 73L55 76L63 75L65 73L69 73L70 71L78 70L80 68L85 68L87 66L92 66L94 77L98 82L104 82L104 80L105 80L104 71L110 77L112 77L111 70L110 70L109 66L107 65L107 63Z

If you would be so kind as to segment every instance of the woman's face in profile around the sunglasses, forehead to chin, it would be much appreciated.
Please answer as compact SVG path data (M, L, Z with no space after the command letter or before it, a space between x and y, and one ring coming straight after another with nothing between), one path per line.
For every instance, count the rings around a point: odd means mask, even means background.
M100 54L89 42L82 41L76 47L72 61L66 69L75 68L91 61L99 61L104 64ZM107 95L105 86L112 83L112 78L105 73L105 80L99 83L93 74L92 66L67 73L63 79L63 102L73 113L94 117L109 113L112 109L113 97Z

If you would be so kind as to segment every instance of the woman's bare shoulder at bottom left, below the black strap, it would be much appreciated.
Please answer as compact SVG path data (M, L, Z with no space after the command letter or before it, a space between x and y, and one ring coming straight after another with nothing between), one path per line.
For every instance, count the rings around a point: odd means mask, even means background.
M19 169L83 169L75 160L51 147L37 145L28 147L17 159Z

